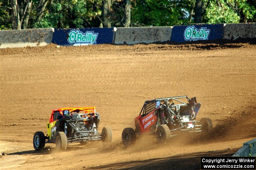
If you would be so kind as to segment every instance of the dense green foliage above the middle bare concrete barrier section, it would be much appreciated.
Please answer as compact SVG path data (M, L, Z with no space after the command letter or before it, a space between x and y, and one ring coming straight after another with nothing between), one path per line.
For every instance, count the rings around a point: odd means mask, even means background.
M141 0L132 1L131 20L134 25L168 26L189 23L193 1Z

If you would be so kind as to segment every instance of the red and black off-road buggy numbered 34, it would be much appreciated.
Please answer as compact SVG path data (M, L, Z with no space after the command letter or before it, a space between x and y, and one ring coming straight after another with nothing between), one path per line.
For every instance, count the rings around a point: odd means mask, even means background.
M123 130L123 145L132 145L142 133L155 135L157 141L162 142L180 131L210 132L212 122L209 118L196 120L200 106L196 97L189 99L187 96L145 101L139 116L134 120L135 130L131 127Z

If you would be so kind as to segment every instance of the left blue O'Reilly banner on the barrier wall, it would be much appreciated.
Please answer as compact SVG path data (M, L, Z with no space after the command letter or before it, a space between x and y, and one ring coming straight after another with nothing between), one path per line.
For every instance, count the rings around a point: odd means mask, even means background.
M114 28L54 29L52 43L62 46L109 44L114 40Z

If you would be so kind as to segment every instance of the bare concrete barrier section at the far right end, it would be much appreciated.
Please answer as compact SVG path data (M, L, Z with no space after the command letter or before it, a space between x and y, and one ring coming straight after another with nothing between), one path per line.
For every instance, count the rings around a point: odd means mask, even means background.
M226 24L223 39L256 38L256 23Z

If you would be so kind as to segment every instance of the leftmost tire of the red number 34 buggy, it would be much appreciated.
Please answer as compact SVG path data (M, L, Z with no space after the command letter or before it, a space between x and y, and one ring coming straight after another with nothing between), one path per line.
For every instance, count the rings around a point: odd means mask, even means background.
M131 146L136 142L136 133L131 127L127 127L122 132L122 142L125 147Z

